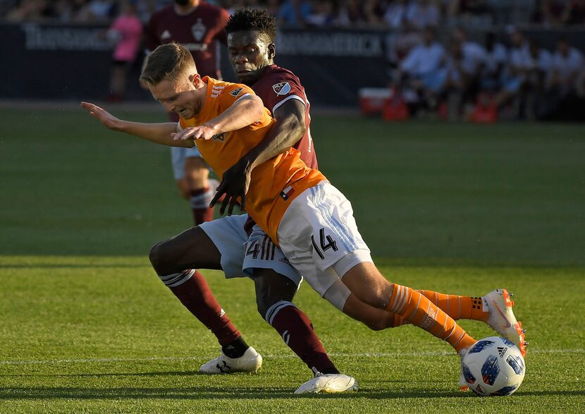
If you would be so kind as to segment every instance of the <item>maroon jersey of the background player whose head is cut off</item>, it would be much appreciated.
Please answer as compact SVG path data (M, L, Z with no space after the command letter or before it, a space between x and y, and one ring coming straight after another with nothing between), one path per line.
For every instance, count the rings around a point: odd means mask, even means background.
M226 10L205 1L184 16L177 14L171 4L151 16L145 33L146 46L152 51L161 44L180 43L193 55L202 77L221 79L217 42L227 42L224 28L228 18Z

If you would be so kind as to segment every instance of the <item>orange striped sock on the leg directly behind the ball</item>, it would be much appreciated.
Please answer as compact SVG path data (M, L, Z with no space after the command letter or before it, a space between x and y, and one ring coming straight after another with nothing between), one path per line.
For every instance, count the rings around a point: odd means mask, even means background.
M400 315L411 324L447 341L457 352L463 348L469 348L476 342L441 308L407 286L393 284L392 295L386 310Z

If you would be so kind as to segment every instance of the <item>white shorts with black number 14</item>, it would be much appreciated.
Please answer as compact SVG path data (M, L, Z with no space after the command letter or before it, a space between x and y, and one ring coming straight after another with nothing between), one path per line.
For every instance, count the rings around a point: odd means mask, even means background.
M276 233L290 264L321 296L356 264L372 262L351 203L327 182L298 195ZM333 305L343 309L343 303Z

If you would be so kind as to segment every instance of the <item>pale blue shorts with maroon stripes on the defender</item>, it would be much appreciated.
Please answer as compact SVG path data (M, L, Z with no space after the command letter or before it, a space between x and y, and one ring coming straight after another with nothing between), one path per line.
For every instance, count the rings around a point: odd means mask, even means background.
M302 276L258 225L248 237L244 230L247 218L247 214L242 214L199 224L221 253L221 269L226 279L253 276L253 269L272 269L298 287Z

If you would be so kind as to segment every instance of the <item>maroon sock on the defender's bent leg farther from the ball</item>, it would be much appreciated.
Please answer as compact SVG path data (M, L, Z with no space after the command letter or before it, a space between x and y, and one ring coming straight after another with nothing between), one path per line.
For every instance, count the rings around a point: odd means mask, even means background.
M213 332L221 346L240 338L240 332L217 302L202 274L195 271L183 284L169 288L185 308Z

